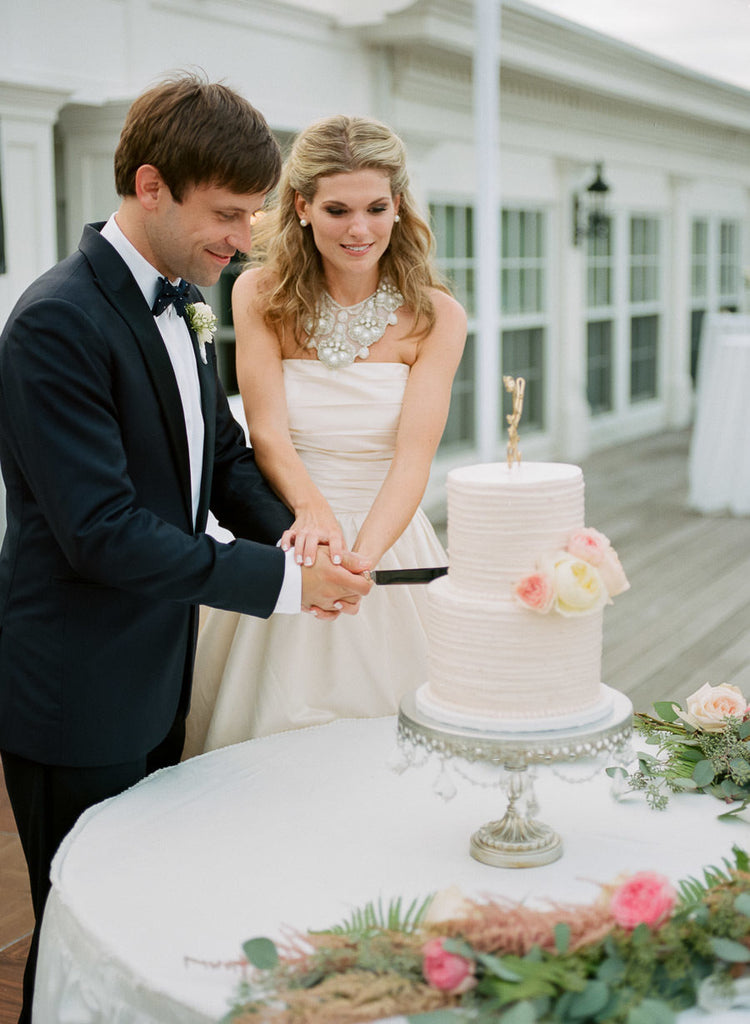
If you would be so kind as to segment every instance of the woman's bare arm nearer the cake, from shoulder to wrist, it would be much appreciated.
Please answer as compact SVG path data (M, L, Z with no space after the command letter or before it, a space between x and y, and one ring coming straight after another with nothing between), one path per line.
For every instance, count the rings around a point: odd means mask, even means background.
M352 545L373 565L401 537L422 500L466 341L463 308L443 292L432 298L436 321L409 373L393 461Z

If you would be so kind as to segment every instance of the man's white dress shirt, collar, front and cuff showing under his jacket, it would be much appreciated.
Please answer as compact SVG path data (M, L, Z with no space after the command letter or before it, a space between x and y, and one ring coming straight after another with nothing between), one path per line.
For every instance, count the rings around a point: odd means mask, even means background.
M135 278L138 288L143 293L143 298L149 303L149 308L151 308L156 301L162 275L123 234L114 213L102 227L101 237L107 239L110 245L117 250L118 254L125 261L128 269L133 278ZM178 283L179 279L172 282L173 285ZM168 306L164 312L155 317L155 321L164 340L169 360L172 364L172 370L174 371L179 389L179 396L182 401L182 413L187 434L193 522L195 524L198 502L201 495L203 444L205 437L205 425L201 410L201 385L198 379L196 353L193 348L193 341L187 330L187 325L173 305ZM299 611L302 602L301 595L301 568L294 560L294 549L292 548L286 552L284 583L274 611L287 614Z

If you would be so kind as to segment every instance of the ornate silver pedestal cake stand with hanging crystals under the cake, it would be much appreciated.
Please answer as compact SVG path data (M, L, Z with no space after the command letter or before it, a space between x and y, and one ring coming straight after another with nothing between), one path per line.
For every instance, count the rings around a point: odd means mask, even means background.
M441 758L459 758L504 767L508 773L508 804L504 816L489 821L471 837L475 860L495 867L535 867L557 860L562 841L549 825L531 816L535 806L529 766L590 760L611 754L629 760L633 706L624 693L602 687L609 710L594 722L564 729L502 732L449 725L417 707L416 690L402 700L399 742L423 748Z

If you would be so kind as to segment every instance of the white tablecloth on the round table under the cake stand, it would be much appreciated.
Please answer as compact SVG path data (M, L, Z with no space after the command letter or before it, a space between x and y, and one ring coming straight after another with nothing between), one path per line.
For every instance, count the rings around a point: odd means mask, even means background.
M588 903L620 872L702 877L748 845L748 825L719 821L708 797L657 812L640 795L616 802L603 773L574 782L543 768L538 817L562 837L562 858L491 867L469 856L469 837L502 815L502 791L454 773L458 794L445 802L433 760L397 774L395 728L394 718L349 720L251 740L87 811L52 865L34 1024L209 1024L240 978L216 965L285 926L326 928L370 900L452 884L475 897ZM741 1020L747 1011L680 1015Z

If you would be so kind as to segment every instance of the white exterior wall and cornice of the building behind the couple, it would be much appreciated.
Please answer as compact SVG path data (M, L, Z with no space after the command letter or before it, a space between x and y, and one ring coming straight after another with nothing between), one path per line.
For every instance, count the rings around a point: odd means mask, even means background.
M0 322L23 288L78 243L83 222L116 205L112 155L131 99L173 69L197 66L238 88L279 130L332 113L371 114L407 142L415 193L471 204L476 181L469 0L384 2L371 25L346 24L334 0L57 0L6 4L0 68L0 169L8 271ZM401 9L398 9L401 8ZM350 19L349 19L350 20ZM82 31L85 26L85 31ZM750 93L543 13L502 11L500 201L546 212L545 425L525 458L578 460L692 416L690 247L696 215L742 223L750 262ZM58 143L55 209L53 127ZM593 165L611 185L619 263L628 218L662 223L658 397L628 400L626 337L616 339L616 400L591 418L586 400L585 256L572 242L572 199ZM59 231L57 230L59 226ZM714 229L713 226L711 228ZM616 306L627 296L622 282ZM487 416L480 409L478 417ZM485 426L487 426L485 422ZM523 434L523 421L522 421ZM498 458L505 437L498 431ZM439 457L442 497L451 462Z

